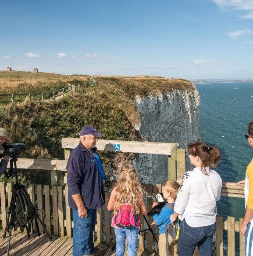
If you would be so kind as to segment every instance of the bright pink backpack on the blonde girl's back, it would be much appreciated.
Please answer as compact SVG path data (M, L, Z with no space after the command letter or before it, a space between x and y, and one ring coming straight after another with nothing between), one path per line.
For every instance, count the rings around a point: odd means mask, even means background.
M115 216L115 225L123 228L140 227L140 216L133 213L131 205L123 203Z

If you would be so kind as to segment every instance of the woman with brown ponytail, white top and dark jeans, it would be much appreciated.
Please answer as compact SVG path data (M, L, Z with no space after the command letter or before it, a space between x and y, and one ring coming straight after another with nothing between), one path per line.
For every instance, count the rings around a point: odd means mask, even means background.
M216 146L202 142L189 144L188 152L196 168L185 173L171 215L171 223L181 215L178 255L192 256L198 246L200 255L211 256L216 202L221 197L222 187L221 177L211 167L216 167L221 154Z

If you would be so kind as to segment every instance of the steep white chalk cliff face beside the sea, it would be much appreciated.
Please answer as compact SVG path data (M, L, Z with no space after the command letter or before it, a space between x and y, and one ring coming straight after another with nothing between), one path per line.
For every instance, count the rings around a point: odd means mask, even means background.
M135 106L140 123L135 128L150 142L175 142L187 148L192 140L200 139L200 95L195 90L173 91L151 97L136 97ZM168 179L166 155L139 154L136 168L144 182L164 183ZM186 170L191 170L189 157Z

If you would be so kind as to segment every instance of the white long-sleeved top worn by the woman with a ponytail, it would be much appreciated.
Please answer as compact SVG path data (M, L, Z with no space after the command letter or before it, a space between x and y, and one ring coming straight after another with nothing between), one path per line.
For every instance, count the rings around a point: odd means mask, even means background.
M206 168L208 175L200 167L185 172L174 206L190 227L203 227L216 221L216 201L221 197L221 176Z

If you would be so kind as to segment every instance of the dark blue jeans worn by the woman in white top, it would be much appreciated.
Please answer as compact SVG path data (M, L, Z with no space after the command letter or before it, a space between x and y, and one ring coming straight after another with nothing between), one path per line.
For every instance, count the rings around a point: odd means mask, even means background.
M192 256L198 246L200 256L211 256L215 230L216 223L204 227L190 227L183 219L179 231L178 255Z

